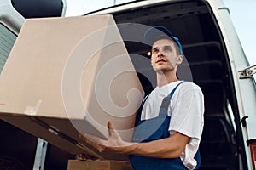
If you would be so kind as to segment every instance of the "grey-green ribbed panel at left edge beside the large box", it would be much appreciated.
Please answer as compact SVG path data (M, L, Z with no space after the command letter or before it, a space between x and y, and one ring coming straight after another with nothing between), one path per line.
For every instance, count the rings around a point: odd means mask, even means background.
M9 53L14 46L15 40L16 35L7 27L3 26L3 24L0 24L0 74Z

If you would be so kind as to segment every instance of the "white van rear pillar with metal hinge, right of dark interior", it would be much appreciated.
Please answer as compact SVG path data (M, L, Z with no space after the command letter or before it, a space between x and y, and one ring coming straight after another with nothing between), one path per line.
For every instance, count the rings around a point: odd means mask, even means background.
M230 56L230 68L237 100L237 110L241 123L241 140L243 140L248 169L256 169L256 65L249 65L236 36L229 13L219 11L219 26L224 35L227 53ZM234 108L235 109L235 108ZM252 158L252 160L250 159ZM252 161L252 162L251 162Z

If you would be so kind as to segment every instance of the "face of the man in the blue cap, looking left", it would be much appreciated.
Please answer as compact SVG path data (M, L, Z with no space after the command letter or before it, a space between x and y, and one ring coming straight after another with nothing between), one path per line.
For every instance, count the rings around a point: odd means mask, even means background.
M154 71L165 73L176 71L177 65L181 64L182 55L177 55L174 42L168 39L160 39L154 42L151 51L151 65Z

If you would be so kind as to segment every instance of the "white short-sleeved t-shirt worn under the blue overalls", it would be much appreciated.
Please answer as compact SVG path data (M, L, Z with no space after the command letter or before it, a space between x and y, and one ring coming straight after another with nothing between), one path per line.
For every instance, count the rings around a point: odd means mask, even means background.
M160 105L173 88L181 81L156 87L143 105L142 120L154 118L159 115ZM201 133L204 125L204 96L201 88L193 82L184 82L179 85L172 96L168 115L171 116L169 132L183 133L189 136L189 144L186 145L180 159L185 167L194 169L196 161L194 156L198 150Z

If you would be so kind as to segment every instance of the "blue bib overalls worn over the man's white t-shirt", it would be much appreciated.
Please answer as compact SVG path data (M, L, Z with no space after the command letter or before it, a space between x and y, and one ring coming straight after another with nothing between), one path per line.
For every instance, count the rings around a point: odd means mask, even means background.
M142 108L137 111L136 126L133 134L133 142L150 142L156 139L165 139L170 136L168 128L171 116L168 116L168 107L177 87L183 82L177 84L172 92L163 99L160 106L159 116L148 120L141 120ZM147 97L144 99L144 101ZM201 159L199 151L195 155L197 166L200 167ZM153 158L147 156L131 155L130 161L134 170L187 170L181 159L178 158Z

